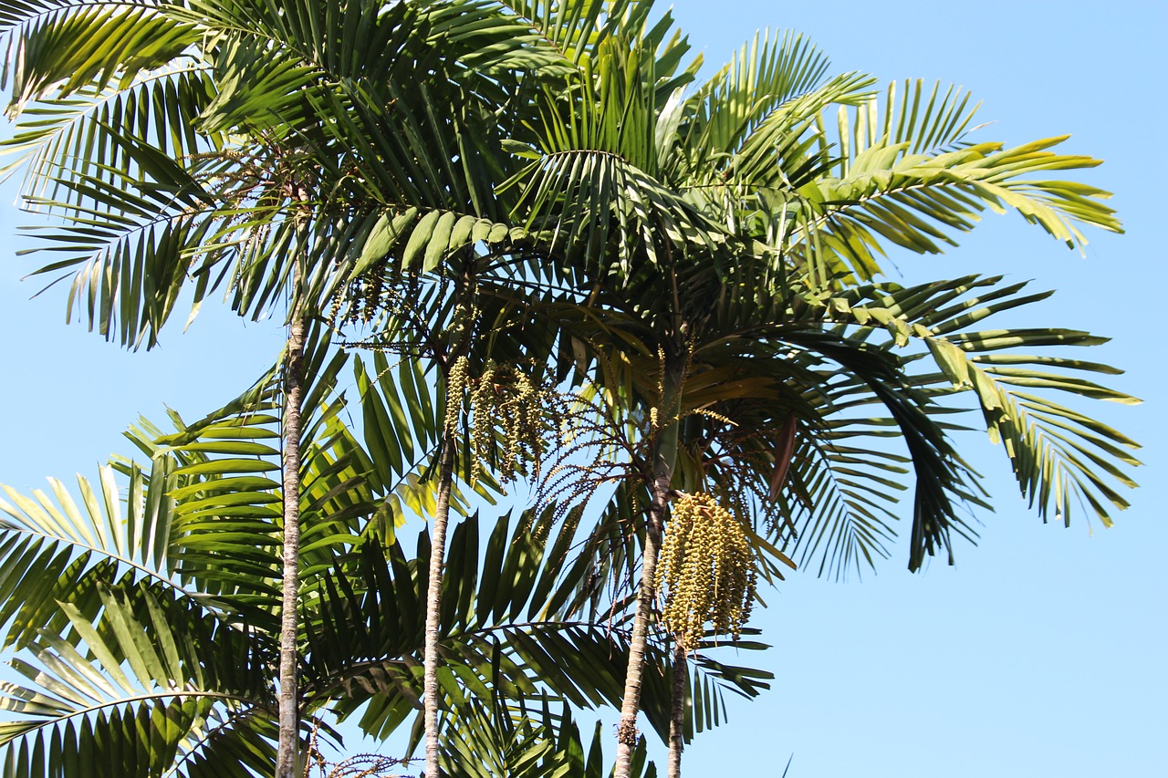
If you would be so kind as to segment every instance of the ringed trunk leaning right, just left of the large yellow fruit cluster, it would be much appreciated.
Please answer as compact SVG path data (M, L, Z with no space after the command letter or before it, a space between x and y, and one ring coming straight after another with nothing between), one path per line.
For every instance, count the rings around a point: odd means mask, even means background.
M667 357L662 389L668 400L669 416L676 416L681 405L681 382L684 359ZM679 424L674 418L658 435L653 452L653 502L645 528L645 555L641 557L641 584L637 592L637 614L628 642L628 669L625 674L625 695L620 704L620 724L617 727L617 766L613 778L631 778L633 749L637 746L637 715L641 709L641 672L645 667L645 640L649 628L649 613L656 591L653 577L661 553L665 515L669 506L669 482L677 459Z

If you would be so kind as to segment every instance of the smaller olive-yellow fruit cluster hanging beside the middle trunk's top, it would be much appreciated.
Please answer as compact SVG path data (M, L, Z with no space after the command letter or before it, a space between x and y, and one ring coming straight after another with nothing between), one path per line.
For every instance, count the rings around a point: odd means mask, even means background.
M502 478L527 475L528 463L538 468L547 432L545 409L552 407L552 393L531 381L516 364L488 361L478 378L470 376L470 362L460 357L451 367L447 397L467 396L471 450L474 454L472 477L481 472L482 461L493 461ZM457 428L461 403L447 402L446 424Z

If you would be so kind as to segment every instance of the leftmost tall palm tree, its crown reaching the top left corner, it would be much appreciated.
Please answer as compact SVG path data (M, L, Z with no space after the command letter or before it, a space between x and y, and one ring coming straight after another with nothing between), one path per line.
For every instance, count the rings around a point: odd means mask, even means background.
M283 470L296 494L304 331L381 258L387 213L445 227L426 236L430 270L452 248L450 217L489 210L465 164L491 114L477 105L500 99L488 74L530 48L529 25L475 2L342 0L43 0L0 5L0 23L15 63L9 111L29 119L11 144L30 171L27 200L65 220L49 236L65 258L39 272L74 273L70 307L88 299L91 327L153 346L187 277L193 312L217 287L253 318L290 296ZM538 50L522 56L541 64ZM298 729L297 505L284 515L281 776Z

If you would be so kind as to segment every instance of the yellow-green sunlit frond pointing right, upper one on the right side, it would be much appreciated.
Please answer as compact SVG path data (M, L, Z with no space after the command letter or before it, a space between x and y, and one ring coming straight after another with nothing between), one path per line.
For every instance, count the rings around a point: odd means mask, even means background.
M1007 147L967 137L976 106L969 96L940 84L892 84L882 103L839 113L839 148L829 175L800 189L820 211L797 239L802 252L819 245L846 266L868 266L884 246L937 253L955 245L953 232L968 231L980 213L1016 210L1071 248L1086 239L1084 224L1120 231L1110 193L1049 178L1052 171L1099 165L1090 157L1055 148L1066 137ZM864 270L861 277L868 277Z

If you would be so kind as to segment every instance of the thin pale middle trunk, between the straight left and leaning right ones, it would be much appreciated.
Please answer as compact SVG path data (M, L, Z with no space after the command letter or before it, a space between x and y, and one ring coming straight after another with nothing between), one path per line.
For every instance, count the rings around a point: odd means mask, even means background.
M447 403L452 402L450 398ZM426 641L422 704L426 723L426 778L438 778L438 630L442 617L443 564L446 558L446 522L454 481L454 432L443 429L442 461L438 467L438 503L430 537L430 577L426 584Z

